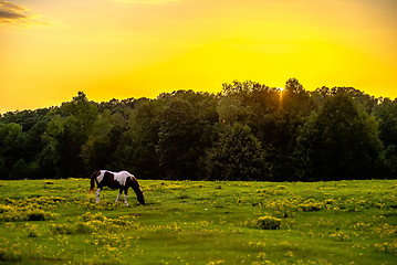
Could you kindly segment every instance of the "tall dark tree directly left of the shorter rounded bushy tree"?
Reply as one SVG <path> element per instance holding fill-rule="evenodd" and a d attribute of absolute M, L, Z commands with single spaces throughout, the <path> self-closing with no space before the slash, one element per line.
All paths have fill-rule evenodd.
<path fill-rule="evenodd" d="M 171 179 L 198 179 L 200 160 L 211 145 L 212 125 L 218 123 L 216 100 L 209 94 L 176 92 L 163 97 L 156 147 L 161 171 Z"/>

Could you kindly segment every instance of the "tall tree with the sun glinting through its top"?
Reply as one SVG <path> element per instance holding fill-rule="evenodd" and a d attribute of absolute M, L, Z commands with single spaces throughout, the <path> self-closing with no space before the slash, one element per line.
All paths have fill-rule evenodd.
<path fill-rule="evenodd" d="M 317 109 L 315 98 L 306 92 L 296 78 L 290 78 L 285 88 L 268 92 L 268 104 L 273 106 L 251 123 L 257 125 L 255 135 L 267 152 L 270 179 L 274 181 L 294 180 L 293 153 L 296 138 L 307 117 Z"/>

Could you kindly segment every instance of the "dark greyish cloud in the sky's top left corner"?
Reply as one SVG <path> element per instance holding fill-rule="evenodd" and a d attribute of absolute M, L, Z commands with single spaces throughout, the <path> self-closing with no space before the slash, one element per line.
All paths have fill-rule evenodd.
<path fill-rule="evenodd" d="M 28 10 L 9 1 L 0 1 L 0 24 L 46 24 Z"/>

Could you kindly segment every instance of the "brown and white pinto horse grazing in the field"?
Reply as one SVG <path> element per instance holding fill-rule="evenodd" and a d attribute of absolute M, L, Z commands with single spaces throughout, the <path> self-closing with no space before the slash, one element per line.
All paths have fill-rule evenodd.
<path fill-rule="evenodd" d="M 119 189 L 116 203 L 118 202 L 119 197 L 122 195 L 124 191 L 124 204 L 128 206 L 127 202 L 127 192 L 128 188 L 132 187 L 133 190 L 136 193 L 136 198 L 138 199 L 138 202 L 140 204 L 145 204 L 144 193 L 142 192 L 139 188 L 139 183 L 134 177 L 134 174 L 130 174 L 127 171 L 119 171 L 119 172 L 112 172 L 107 170 L 98 170 L 95 171 L 91 176 L 91 189 L 90 193 L 92 193 L 95 189 L 95 182 L 96 182 L 96 202 L 100 202 L 100 193 L 102 189 L 107 186 L 111 189 Z"/>

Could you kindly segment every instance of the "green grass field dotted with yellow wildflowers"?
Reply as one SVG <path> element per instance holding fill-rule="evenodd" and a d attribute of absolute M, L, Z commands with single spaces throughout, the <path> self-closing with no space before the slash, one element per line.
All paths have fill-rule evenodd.
<path fill-rule="evenodd" d="M 397 264 L 397 180 L 0 181 L 3 264 Z"/>

